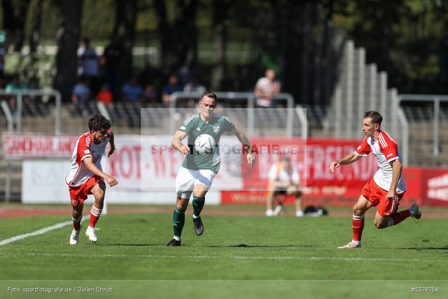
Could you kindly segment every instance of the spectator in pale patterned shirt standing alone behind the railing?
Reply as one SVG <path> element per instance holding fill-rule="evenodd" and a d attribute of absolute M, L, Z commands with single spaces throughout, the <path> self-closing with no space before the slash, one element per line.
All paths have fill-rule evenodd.
<path fill-rule="evenodd" d="M 264 77 L 258 79 L 253 93 L 257 95 L 257 107 L 272 107 L 272 96 L 280 93 L 280 82 L 275 79 L 273 69 L 267 69 Z"/>

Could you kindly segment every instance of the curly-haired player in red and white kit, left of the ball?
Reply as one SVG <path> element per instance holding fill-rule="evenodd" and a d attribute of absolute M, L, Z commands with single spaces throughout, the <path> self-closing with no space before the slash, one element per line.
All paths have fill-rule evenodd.
<path fill-rule="evenodd" d="M 72 155 L 72 167 L 65 182 L 69 185 L 70 200 L 72 203 L 73 231 L 70 235 L 70 245 L 78 244 L 79 232 L 81 230 L 81 219 L 83 218 L 84 200 L 87 195 L 93 194 L 95 203 L 90 210 L 90 223 L 86 235 L 92 242 L 97 242 L 95 224 L 100 218 L 104 204 L 106 184 L 112 187 L 118 181 L 103 172 L 101 158 L 106 151 L 108 157 L 115 150 L 113 134 L 110 130 L 111 122 L 102 115 L 95 115 L 89 119 L 90 132 L 83 134 L 76 142 Z M 106 150 L 107 144 L 110 148 Z"/>

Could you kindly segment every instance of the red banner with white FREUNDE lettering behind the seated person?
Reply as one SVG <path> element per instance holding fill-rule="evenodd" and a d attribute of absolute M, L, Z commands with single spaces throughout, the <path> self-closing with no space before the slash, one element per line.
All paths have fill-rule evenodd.
<path fill-rule="evenodd" d="M 278 139 L 258 138 L 250 140 L 258 153 L 257 162 L 253 168 L 244 167 L 242 160 L 241 173 L 243 189 L 265 188 L 267 173 L 271 165 L 280 160 L 282 155 L 288 155 L 291 163 L 299 171 L 302 185 L 308 187 L 345 186 L 347 188 L 362 188 L 365 182 L 373 177 L 378 170 L 376 157 L 371 154 L 359 159 L 356 163 L 343 165 L 335 173 L 329 171 L 330 163 L 352 153 L 361 141 L 301 138 Z M 278 147 L 277 153 L 268 147 Z"/>

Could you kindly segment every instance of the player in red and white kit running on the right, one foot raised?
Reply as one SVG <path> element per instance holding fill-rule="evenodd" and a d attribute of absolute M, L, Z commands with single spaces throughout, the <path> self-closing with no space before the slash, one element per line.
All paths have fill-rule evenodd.
<path fill-rule="evenodd" d="M 366 112 L 362 120 L 362 131 L 366 137 L 361 145 L 353 153 L 330 164 L 330 171 L 335 172 L 340 165 L 353 163 L 372 152 L 378 159 L 380 167 L 373 178 L 364 185 L 361 196 L 353 206 L 353 239 L 347 245 L 338 248 L 361 247 L 364 214 L 371 207 L 378 206 L 373 223 L 379 229 L 397 225 L 410 216 L 415 219 L 422 217 L 417 203 L 407 210 L 398 212 L 406 184 L 401 175 L 402 164 L 398 145 L 387 132 L 380 129 L 382 121 L 383 118 L 378 112 Z"/>

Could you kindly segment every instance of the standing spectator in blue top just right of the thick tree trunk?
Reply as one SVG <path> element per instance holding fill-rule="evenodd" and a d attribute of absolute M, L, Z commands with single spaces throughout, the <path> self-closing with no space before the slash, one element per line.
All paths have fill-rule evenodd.
<path fill-rule="evenodd" d="M 80 61 L 80 75 L 89 81 L 89 87 L 93 95 L 98 92 L 99 58 L 95 49 L 90 46 L 89 38 L 83 39 L 83 46 L 78 49 Z"/>

